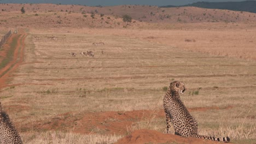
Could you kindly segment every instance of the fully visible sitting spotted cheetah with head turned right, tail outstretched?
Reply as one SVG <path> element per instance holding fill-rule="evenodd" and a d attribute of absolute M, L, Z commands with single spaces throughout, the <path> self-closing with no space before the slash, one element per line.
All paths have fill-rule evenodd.
<path fill-rule="evenodd" d="M 167 133 L 170 133 L 171 123 L 176 135 L 208 139 L 212 141 L 229 142 L 229 137 L 216 138 L 197 134 L 197 122 L 190 115 L 187 108 L 179 98 L 179 93 L 184 93 L 185 86 L 183 82 L 171 82 L 165 97 L 164 110 L 166 115 Z"/>

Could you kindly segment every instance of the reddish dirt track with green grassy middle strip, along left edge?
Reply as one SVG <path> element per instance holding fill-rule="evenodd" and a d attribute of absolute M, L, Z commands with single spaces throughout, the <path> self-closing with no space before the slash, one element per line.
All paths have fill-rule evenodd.
<path fill-rule="evenodd" d="M 20 30 L 18 34 L 11 34 L 10 38 L 8 38 L 7 42 L 1 48 L 0 64 L 4 67 L 1 68 L 0 65 L 0 89 L 6 87 L 8 76 L 12 71 L 16 70 L 23 61 L 26 36 L 27 34 L 23 30 Z M 9 56 L 8 58 L 8 55 L 13 56 Z M 3 61 L 7 63 L 3 64 Z"/>

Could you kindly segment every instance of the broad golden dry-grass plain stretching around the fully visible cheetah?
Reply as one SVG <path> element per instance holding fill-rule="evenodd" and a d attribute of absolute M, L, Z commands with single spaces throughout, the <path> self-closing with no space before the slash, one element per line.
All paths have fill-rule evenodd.
<path fill-rule="evenodd" d="M 162 109 L 165 87 L 178 80 L 188 88 L 181 97 L 189 109 L 218 107 L 191 112 L 199 134 L 255 143 L 254 31 L 31 29 L 24 63 L 1 90 L 1 103 L 24 143 L 112 143 L 123 135 L 38 131 L 33 125 L 67 112 L 152 110 L 149 119 L 127 126 L 127 134 L 143 128 L 164 132 L 165 118 L 154 113 Z M 100 41 L 105 45 L 92 45 Z M 94 57 L 79 55 L 89 50 Z M 237 58 L 240 51 L 245 59 Z"/>

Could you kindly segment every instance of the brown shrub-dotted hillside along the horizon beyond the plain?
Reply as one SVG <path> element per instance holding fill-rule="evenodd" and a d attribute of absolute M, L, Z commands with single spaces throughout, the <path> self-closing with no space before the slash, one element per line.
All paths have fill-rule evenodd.
<path fill-rule="evenodd" d="M 127 14 L 133 20 L 152 23 L 199 23 L 199 22 L 255 22 L 256 14 L 197 7 L 160 8 L 150 5 L 118 5 L 113 7 L 87 7 L 84 5 L 61 4 L 0 4 L 0 13 L 16 11 L 24 7 L 26 13 L 62 13 L 63 15 L 78 14 L 80 17 L 91 14 L 112 15 L 121 18 Z M 62 15 L 61 14 L 61 15 Z M 40 14 L 42 15 L 42 14 Z M 65 17 L 65 16 L 64 16 Z M 83 17 L 84 19 L 84 17 Z M 101 19 L 101 18 L 100 18 Z M 107 20 L 109 20 L 107 18 Z M 3 21 L 4 22 L 4 21 Z"/>

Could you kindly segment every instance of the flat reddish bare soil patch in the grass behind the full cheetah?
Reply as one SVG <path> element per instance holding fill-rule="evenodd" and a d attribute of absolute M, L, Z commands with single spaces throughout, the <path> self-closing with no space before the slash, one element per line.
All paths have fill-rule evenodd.
<path fill-rule="evenodd" d="M 193 111 L 225 110 L 228 107 L 194 107 Z M 165 119 L 164 110 L 136 110 L 136 111 L 106 111 L 106 112 L 68 112 L 57 117 L 38 121 L 33 125 L 34 130 L 61 130 L 80 134 L 117 134 L 125 135 L 130 131 L 127 129 L 140 121 L 148 121 L 152 118 Z M 21 126 L 28 130 L 30 125 Z"/>

